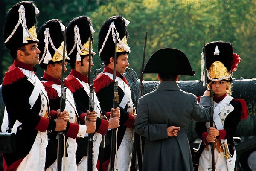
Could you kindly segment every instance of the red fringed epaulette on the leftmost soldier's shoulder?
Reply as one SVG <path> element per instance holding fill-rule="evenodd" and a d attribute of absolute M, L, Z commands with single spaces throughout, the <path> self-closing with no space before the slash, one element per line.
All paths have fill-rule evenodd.
<path fill-rule="evenodd" d="M 5 73 L 3 78 L 3 85 L 12 84 L 15 81 L 18 81 L 21 78 L 24 78 L 25 74 L 15 65 L 11 65 L 8 68 L 8 71 Z"/>

